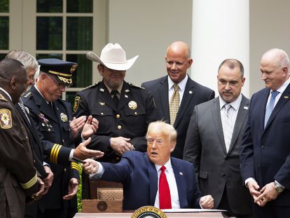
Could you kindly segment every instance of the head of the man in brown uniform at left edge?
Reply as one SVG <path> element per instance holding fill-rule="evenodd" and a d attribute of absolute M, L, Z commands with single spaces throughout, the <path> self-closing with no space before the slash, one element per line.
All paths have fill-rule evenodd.
<path fill-rule="evenodd" d="M 25 91 L 27 73 L 18 60 L 4 59 L 0 62 L 0 86 L 11 95 L 13 103 L 19 101 Z"/>

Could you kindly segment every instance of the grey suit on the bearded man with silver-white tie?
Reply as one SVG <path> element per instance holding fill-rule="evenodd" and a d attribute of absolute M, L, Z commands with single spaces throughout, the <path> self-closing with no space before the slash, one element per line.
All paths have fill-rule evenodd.
<path fill-rule="evenodd" d="M 251 196 L 242 185 L 239 157 L 248 107 L 249 99 L 242 96 L 230 148 L 226 152 L 219 97 L 197 105 L 184 147 L 184 160 L 195 165 L 202 194 L 212 195 L 216 208 L 226 188 L 230 208 L 237 214 L 251 213 Z"/>

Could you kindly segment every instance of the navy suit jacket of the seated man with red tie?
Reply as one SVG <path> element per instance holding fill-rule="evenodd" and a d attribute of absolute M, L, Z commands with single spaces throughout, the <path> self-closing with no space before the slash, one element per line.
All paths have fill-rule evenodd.
<path fill-rule="evenodd" d="M 181 208 L 200 208 L 201 193 L 195 182 L 193 165 L 187 161 L 171 158 L 177 181 Z M 145 205 L 154 205 L 158 190 L 158 175 L 147 153 L 127 151 L 119 163 L 102 163 L 102 179 L 123 183 L 123 210 L 136 210 Z"/>

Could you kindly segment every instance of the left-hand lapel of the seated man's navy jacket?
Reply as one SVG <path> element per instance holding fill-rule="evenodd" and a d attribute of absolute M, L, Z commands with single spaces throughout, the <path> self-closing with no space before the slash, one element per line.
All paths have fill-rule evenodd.
<path fill-rule="evenodd" d="M 154 163 L 149 161 L 147 153 L 144 153 L 144 158 L 146 165 L 148 166 L 148 175 L 149 175 L 149 186 L 150 186 L 150 205 L 154 205 L 156 199 L 156 193 L 158 190 L 158 174 Z M 140 187 L 141 188 L 141 187 Z"/>

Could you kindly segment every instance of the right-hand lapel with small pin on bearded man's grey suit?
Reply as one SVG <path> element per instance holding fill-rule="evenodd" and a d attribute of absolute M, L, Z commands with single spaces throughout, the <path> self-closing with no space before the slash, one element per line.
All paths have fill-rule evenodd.
<path fill-rule="evenodd" d="M 237 138 L 241 134 L 241 130 L 244 125 L 244 121 L 247 118 L 248 114 L 248 107 L 249 107 L 249 102 L 247 101 L 246 97 L 242 95 L 242 102 L 239 107 L 239 111 L 237 111 L 237 118 L 235 120 L 235 126 L 233 130 L 233 136 L 230 141 L 230 148 L 228 149 L 228 154 L 230 154 L 230 151 L 233 150 L 233 147 L 235 146 L 235 142 L 237 141 Z"/>

